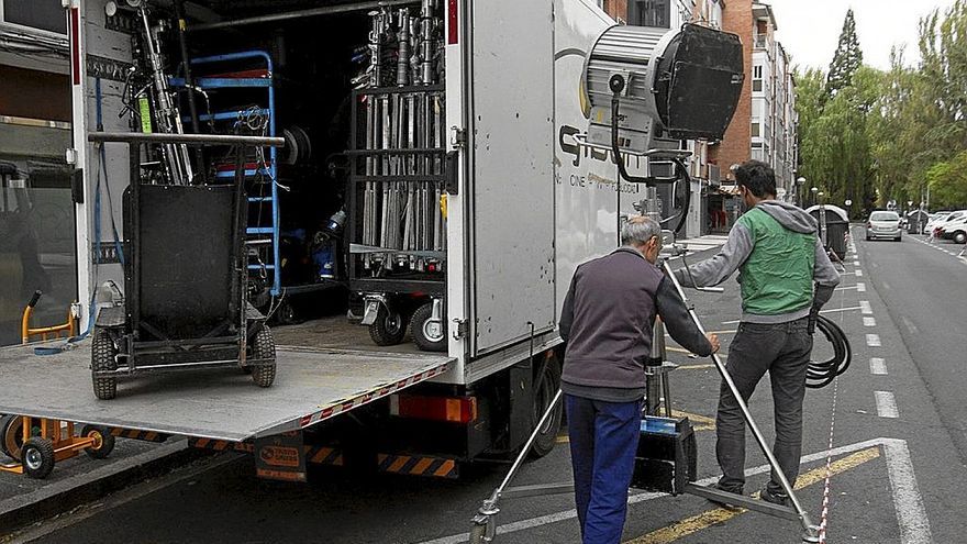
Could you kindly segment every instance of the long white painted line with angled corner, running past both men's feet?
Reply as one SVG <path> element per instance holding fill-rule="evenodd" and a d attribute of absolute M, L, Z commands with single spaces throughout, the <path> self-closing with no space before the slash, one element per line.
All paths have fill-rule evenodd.
<path fill-rule="evenodd" d="M 930 532 L 930 521 L 926 518 L 926 509 L 923 507 L 923 499 L 920 496 L 920 486 L 916 484 L 916 476 L 913 474 L 913 460 L 910 457 L 910 449 L 907 447 L 907 441 L 900 438 L 874 438 L 845 446 L 834 447 L 824 452 L 804 455 L 800 459 L 800 464 L 815 463 L 824 460 L 827 456 L 837 457 L 841 455 L 859 452 L 872 446 L 880 446 L 883 449 L 887 471 L 890 477 L 890 487 L 893 491 L 893 508 L 897 511 L 897 521 L 900 525 L 900 544 L 930 544 L 933 536 Z M 755 476 L 769 471 L 769 465 L 759 465 L 754 468 L 747 468 L 745 475 Z M 708 486 L 719 481 L 719 476 L 704 478 L 696 484 Z M 627 498 L 629 504 L 635 504 L 659 497 L 668 497 L 666 493 L 638 493 Z M 497 528 L 497 534 L 514 533 L 527 529 L 534 529 L 548 523 L 571 520 L 577 518 L 575 509 L 555 512 L 547 515 L 540 515 L 529 520 L 521 520 Z M 432 541 L 425 541 L 420 544 L 460 544 L 467 542 L 470 537 L 469 533 L 454 534 L 443 536 Z"/>

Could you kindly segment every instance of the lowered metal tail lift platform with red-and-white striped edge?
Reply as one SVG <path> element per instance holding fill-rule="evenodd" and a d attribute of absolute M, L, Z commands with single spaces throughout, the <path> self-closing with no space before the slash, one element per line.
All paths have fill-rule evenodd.
<path fill-rule="evenodd" d="M 90 389 L 90 344 L 56 355 L 0 348 L 0 413 L 129 431 L 244 442 L 298 431 L 444 374 L 445 356 L 279 346 L 268 389 L 240 369 L 124 380 L 118 398 Z"/>

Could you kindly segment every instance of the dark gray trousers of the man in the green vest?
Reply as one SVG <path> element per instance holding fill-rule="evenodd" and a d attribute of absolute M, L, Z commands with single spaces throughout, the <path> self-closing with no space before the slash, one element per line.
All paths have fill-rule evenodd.
<path fill-rule="evenodd" d="M 799 476 L 799 457 L 802 453 L 802 399 L 812 352 L 812 335 L 807 332 L 808 320 L 802 318 L 776 324 L 741 323 L 729 347 L 729 362 L 725 365 L 746 402 L 762 377 L 769 373 L 776 414 L 773 454 L 790 485 Z M 745 420 L 724 381 L 719 392 L 715 428 L 719 438 L 715 454 L 722 467 L 719 487 L 741 493 L 745 485 Z M 768 484 L 769 491 L 783 492 L 778 481 L 774 470 Z"/>

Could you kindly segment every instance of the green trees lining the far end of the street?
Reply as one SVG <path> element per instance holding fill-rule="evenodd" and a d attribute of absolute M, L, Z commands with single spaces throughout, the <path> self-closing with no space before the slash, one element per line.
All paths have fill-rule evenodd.
<path fill-rule="evenodd" d="M 889 200 L 919 203 L 927 189 L 932 209 L 967 208 L 967 0 L 920 22 L 915 68 L 896 48 L 887 71 L 852 68 L 852 19 L 830 75 L 796 75 L 807 189 L 852 200 L 854 218 Z"/>

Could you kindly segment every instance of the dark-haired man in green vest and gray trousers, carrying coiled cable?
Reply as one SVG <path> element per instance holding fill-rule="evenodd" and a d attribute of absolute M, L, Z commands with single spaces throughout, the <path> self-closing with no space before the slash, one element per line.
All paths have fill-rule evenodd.
<path fill-rule="evenodd" d="M 738 270 L 742 320 L 729 348 L 726 368 L 748 401 L 768 371 L 776 414 L 773 453 L 794 485 L 802 452 L 802 399 L 819 311 L 840 284 L 840 274 L 816 236 L 816 221 L 796 206 L 776 200 L 776 175 L 759 160 L 735 169 L 746 211 L 715 256 L 676 270 L 686 287 L 719 285 Z M 745 485 L 745 420 L 722 384 L 715 418 L 719 489 L 742 495 Z M 762 498 L 786 504 L 773 474 Z"/>

